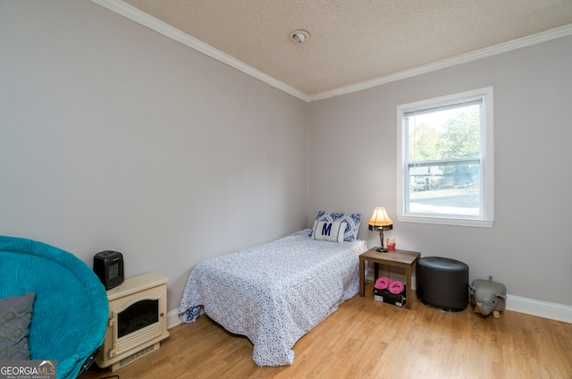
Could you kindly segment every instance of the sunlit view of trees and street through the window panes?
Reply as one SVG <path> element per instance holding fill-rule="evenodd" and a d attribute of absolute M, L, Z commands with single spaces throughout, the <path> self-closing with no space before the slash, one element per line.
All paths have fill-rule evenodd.
<path fill-rule="evenodd" d="M 409 112 L 408 213 L 480 215 L 481 102 Z"/>

